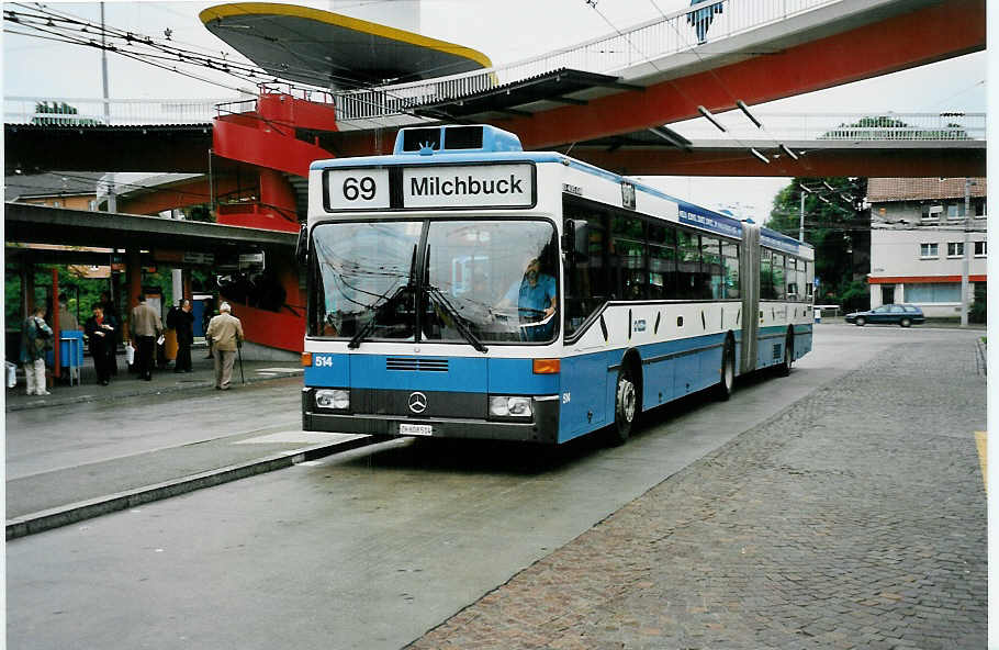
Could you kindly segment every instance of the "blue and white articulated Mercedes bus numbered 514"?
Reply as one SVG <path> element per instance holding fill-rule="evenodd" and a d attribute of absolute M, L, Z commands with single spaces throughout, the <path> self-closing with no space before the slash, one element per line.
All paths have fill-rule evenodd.
<path fill-rule="evenodd" d="M 811 349 L 813 251 L 492 126 L 308 177 L 306 430 L 561 444 Z"/>

